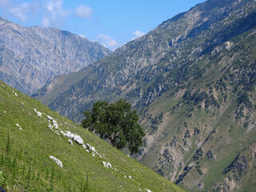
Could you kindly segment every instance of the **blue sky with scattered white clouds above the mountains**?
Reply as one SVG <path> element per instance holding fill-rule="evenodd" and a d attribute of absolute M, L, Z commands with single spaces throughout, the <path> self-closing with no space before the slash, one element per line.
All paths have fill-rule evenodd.
<path fill-rule="evenodd" d="M 0 0 L 0 15 L 22 26 L 57 27 L 110 50 L 205 0 Z"/>

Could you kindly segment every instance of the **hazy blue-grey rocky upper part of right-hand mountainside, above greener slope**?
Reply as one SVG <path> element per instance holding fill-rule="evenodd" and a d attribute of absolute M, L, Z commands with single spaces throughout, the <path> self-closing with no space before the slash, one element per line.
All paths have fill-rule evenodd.
<path fill-rule="evenodd" d="M 253 4 L 250 10 L 243 10 L 250 4 Z M 202 55 L 250 30 L 255 23 L 254 1 L 201 3 L 163 22 L 142 38 L 128 42 L 78 75 L 70 74 L 74 77 L 70 81 L 51 82 L 36 93 L 36 98 L 69 118 L 72 115 L 77 118 L 79 112 L 90 108 L 88 104 L 99 98 L 108 101 L 126 98 L 137 108 L 146 106 L 176 86 L 183 71 Z M 197 66 L 191 72 L 196 74 L 199 70 Z M 60 90 L 56 91 L 55 86 L 61 87 Z M 82 115 L 74 120 L 81 119 Z"/>

